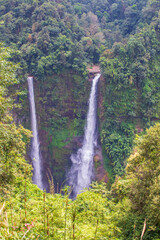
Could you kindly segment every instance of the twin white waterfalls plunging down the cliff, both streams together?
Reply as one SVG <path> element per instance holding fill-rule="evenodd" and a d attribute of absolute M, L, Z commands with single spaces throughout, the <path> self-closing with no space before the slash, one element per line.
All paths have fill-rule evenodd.
<path fill-rule="evenodd" d="M 93 179 L 93 158 L 94 148 L 97 145 L 96 131 L 96 111 L 97 111 L 97 83 L 100 74 L 97 74 L 92 81 L 92 88 L 89 98 L 89 109 L 87 113 L 87 121 L 85 126 L 85 134 L 82 148 L 77 154 L 71 155 L 72 166 L 68 173 L 69 185 L 73 189 L 73 198 L 76 197 L 84 188 L 88 188 Z M 33 77 L 28 77 L 29 102 L 31 112 L 32 125 L 32 143 L 31 143 L 31 159 L 33 163 L 33 182 L 43 189 L 42 174 L 41 174 L 41 157 L 39 150 L 39 139 L 37 132 L 36 109 L 34 101 Z"/>

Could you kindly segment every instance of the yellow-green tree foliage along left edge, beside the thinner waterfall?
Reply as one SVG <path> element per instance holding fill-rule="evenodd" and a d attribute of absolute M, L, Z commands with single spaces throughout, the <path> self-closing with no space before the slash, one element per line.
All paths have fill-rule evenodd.
<path fill-rule="evenodd" d="M 0 181 L 1 186 L 13 184 L 25 171 L 31 167 L 25 163 L 25 143 L 30 131 L 13 122 L 11 111 L 13 109 L 12 96 L 6 97 L 9 86 L 18 82 L 16 79 L 17 65 L 8 61 L 10 50 L 0 48 Z M 28 169 L 28 170 L 27 170 Z M 1 188 L 2 190 L 2 188 Z"/>

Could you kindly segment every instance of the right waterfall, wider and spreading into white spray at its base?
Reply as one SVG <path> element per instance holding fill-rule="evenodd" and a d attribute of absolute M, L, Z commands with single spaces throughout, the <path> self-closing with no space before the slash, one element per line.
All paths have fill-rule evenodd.
<path fill-rule="evenodd" d="M 96 115 L 97 84 L 99 78 L 100 74 L 97 74 L 92 81 L 82 148 L 77 151 L 77 154 L 71 155 L 72 166 L 68 172 L 68 184 L 72 188 L 73 198 L 84 188 L 89 188 L 93 180 L 94 148 L 97 145 Z"/>

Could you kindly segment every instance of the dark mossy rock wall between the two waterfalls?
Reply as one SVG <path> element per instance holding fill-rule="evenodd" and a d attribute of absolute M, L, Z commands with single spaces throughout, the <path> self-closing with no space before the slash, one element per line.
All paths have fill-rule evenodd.
<path fill-rule="evenodd" d="M 27 84 L 24 85 L 28 91 Z M 63 181 L 66 181 L 70 155 L 81 146 L 90 87 L 88 79 L 69 71 L 46 77 L 43 82 L 34 79 L 43 181 L 47 191 L 50 172 L 56 191 L 59 191 Z M 22 110 L 17 112 L 19 122 L 31 129 L 27 95 L 21 102 Z M 31 161 L 29 148 L 27 159 Z"/>

